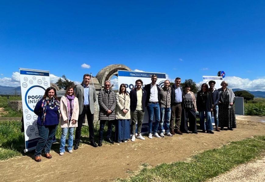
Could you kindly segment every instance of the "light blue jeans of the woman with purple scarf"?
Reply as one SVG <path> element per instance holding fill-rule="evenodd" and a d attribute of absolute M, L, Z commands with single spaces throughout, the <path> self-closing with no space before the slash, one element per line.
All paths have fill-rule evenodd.
<path fill-rule="evenodd" d="M 67 130 L 68 130 L 67 148 L 68 148 L 68 151 L 72 150 L 73 142 L 74 142 L 74 129 L 75 129 L 74 127 L 70 127 L 69 130 L 68 130 L 68 128 L 62 128 L 60 152 L 65 152 L 65 139 L 66 139 L 66 135 L 67 135 Z"/>

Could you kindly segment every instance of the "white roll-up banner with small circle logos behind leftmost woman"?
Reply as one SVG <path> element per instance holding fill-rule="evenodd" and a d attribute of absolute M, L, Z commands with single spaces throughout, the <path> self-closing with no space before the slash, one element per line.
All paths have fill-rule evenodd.
<path fill-rule="evenodd" d="M 39 137 L 38 116 L 34 113 L 34 107 L 42 98 L 45 90 L 50 87 L 50 73 L 49 71 L 24 68 L 19 68 L 19 71 L 25 130 L 24 152 L 27 152 L 34 150 L 37 145 Z"/>

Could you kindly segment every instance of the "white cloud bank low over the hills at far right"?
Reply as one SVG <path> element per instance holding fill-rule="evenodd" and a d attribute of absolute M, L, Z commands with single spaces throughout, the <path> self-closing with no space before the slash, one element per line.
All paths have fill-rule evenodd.
<path fill-rule="evenodd" d="M 223 80 L 228 82 L 228 88 L 243 89 L 249 91 L 265 91 L 265 78 L 250 80 L 236 76 L 227 76 Z M 197 83 L 201 85 L 203 82 Z"/>

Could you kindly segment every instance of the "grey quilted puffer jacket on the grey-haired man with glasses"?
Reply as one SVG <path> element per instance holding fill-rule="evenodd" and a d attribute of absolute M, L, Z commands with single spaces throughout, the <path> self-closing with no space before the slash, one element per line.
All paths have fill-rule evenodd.
<path fill-rule="evenodd" d="M 116 98 L 115 93 L 111 89 L 109 90 L 109 96 L 106 89 L 98 93 L 99 120 L 115 120 Z M 107 114 L 108 110 L 111 110 L 112 113 Z"/>

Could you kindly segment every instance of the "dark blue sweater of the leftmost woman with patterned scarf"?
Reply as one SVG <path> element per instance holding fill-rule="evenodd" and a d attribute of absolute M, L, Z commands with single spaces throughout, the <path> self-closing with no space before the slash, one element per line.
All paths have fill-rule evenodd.
<path fill-rule="evenodd" d="M 39 125 L 57 125 L 59 123 L 59 118 L 58 118 L 58 107 L 55 106 L 53 109 L 51 109 L 50 106 L 46 106 L 46 117 L 45 121 L 42 124 L 41 121 L 41 116 L 43 115 L 43 108 L 41 107 L 43 99 L 41 99 L 35 106 L 34 108 L 34 113 L 37 114 L 38 119 L 37 123 Z"/>

